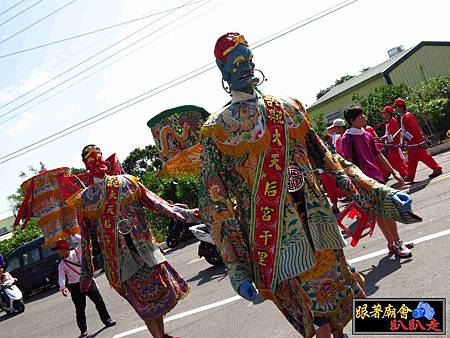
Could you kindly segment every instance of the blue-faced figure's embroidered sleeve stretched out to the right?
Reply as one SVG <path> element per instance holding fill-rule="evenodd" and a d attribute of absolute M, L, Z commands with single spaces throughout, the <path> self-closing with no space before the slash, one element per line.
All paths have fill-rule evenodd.
<path fill-rule="evenodd" d="M 340 155 L 332 154 L 312 129 L 307 135 L 306 142 L 312 164 L 334 176 L 338 188 L 351 194 L 352 199 L 369 214 L 393 218 L 402 223 L 421 221 L 420 217 L 401 211 L 400 207 L 393 202 L 392 196 L 398 190 L 378 183 Z"/>

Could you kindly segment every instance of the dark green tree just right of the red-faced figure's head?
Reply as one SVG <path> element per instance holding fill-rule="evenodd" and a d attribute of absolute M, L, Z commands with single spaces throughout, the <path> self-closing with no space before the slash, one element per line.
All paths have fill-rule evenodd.
<path fill-rule="evenodd" d="M 145 148 L 136 148 L 122 163 L 127 174 L 142 177 L 147 172 L 161 170 L 162 162 L 159 159 L 159 150 L 155 145 Z"/>

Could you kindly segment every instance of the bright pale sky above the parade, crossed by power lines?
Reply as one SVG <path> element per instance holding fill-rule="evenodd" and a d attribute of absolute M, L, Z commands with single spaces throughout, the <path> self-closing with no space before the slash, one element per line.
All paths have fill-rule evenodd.
<path fill-rule="evenodd" d="M 0 12 L 17 1 L 2 0 Z M 35 0 L 27 0 L 1 15 L 0 23 L 34 2 Z M 1 25 L 0 41 L 69 2 L 71 0 L 42 1 L 26 13 Z M 133 47 L 142 49 L 113 66 L 36 107 L 29 108 L 37 101 L 25 105 L 6 117 L 23 111 L 20 116 L 4 124 L 1 124 L 4 118 L 0 118 L 0 157 L 213 61 L 215 40 L 227 31 L 243 33 L 251 44 L 338 2 L 205 0 L 179 9 L 67 75 L 1 108 L 0 115 L 101 58 L 167 25 Z M 78 0 L 29 30 L 1 43 L 0 55 L 184 3 L 186 0 Z M 311 104 L 315 94 L 334 83 L 336 78 L 345 74 L 357 74 L 364 67 L 386 60 L 387 50 L 392 47 L 409 47 L 422 40 L 448 40 L 449 9 L 450 5 L 445 0 L 360 0 L 255 50 L 256 66 L 268 78 L 262 89 L 276 95 L 294 96 Z M 189 11 L 193 12 L 189 14 Z M 184 14 L 184 18 L 170 23 Z M 158 17 L 0 59 L 0 106 L 156 18 Z M 88 46 L 90 47 L 87 48 Z M 132 48 L 126 52 L 131 50 Z M 77 54 L 71 57 L 75 53 Z M 118 54 L 117 57 L 121 55 L 123 54 Z M 84 75 L 87 74 L 89 72 Z M 67 82 L 38 100 L 70 86 L 80 78 Z M 26 171 L 29 165 L 38 167 L 39 161 L 42 161 L 47 169 L 82 167 L 80 151 L 88 143 L 98 144 L 106 155 L 117 152 L 123 160 L 132 149 L 153 142 L 146 122 L 158 112 L 184 104 L 196 104 L 212 112 L 227 99 L 226 93 L 221 89 L 220 74 L 214 69 L 111 118 L 0 164 L 0 218 L 8 215 L 8 212 L 1 214 L 10 207 L 6 197 L 20 185 L 22 179 L 19 178 L 19 173 Z"/>

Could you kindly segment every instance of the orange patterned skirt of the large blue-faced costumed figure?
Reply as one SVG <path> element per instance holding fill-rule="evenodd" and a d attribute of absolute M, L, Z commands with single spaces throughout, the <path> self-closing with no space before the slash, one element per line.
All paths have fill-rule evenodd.
<path fill-rule="evenodd" d="M 275 291 L 275 304 L 304 337 L 329 323 L 342 330 L 352 319 L 352 299 L 365 297 L 342 250 L 316 252 L 316 264 L 300 276 L 282 281 Z"/>

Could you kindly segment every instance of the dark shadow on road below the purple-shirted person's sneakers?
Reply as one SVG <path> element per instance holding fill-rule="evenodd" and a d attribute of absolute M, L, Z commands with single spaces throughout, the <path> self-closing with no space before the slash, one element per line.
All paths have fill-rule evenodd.
<path fill-rule="evenodd" d="M 364 275 L 364 278 L 366 279 L 364 290 L 367 296 L 371 296 L 378 291 L 377 283 L 380 280 L 399 270 L 402 264 L 406 264 L 412 261 L 411 258 L 400 259 L 398 257 L 395 257 L 394 259 L 391 259 L 391 257 L 392 256 L 385 256 L 380 259 L 378 265 L 372 265 L 372 268 L 370 269 L 359 271 Z M 366 273 L 367 271 L 369 272 Z"/>

